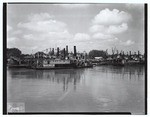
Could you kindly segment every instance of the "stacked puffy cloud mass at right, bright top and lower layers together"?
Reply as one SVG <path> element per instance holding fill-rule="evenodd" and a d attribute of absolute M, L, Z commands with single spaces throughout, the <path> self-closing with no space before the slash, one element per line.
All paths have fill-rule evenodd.
<path fill-rule="evenodd" d="M 92 20 L 89 31 L 93 39 L 101 39 L 105 42 L 117 42 L 117 34 L 124 33 L 128 30 L 128 22 L 132 16 L 124 11 L 113 9 L 101 10 Z M 133 44 L 132 41 L 122 42 L 122 45 Z"/>

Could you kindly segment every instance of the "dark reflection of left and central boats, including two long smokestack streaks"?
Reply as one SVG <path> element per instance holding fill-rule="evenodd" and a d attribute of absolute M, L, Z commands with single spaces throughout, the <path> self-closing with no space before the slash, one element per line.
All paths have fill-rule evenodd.
<path fill-rule="evenodd" d="M 67 69 L 67 70 L 27 70 L 27 69 L 9 69 L 9 74 L 13 79 L 47 79 L 52 83 L 63 84 L 63 91 L 68 90 L 69 84 L 76 90 L 80 79 L 84 77 L 85 69 Z"/>

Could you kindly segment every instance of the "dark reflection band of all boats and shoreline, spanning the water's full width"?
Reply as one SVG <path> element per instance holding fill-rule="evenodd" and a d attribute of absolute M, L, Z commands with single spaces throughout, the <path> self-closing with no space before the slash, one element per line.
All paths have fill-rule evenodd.
<path fill-rule="evenodd" d="M 63 91 L 68 90 L 69 84 L 77 85 L 85 79 L 89 73 L 105 75 L 105 78 L 121 80 L 143 80 L 145 75 L 144 66 L 99 66 L 93 69 L 62 69 L 62 70 L 29 70 L 29 69 L 9 69 L 9 74 L 13 79 L 47 79 L 50 82 L 63 84 Z"/>

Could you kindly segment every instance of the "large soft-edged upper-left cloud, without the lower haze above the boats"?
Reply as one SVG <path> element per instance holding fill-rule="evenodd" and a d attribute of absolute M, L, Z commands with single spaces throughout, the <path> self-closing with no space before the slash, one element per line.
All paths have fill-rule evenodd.
<path fill-rule="evenodd" d="M 36 40 L 57 40 L 70 38 L 72 35 L 67 30 L 64 22 L 54 19 L 54 16 L 48 13 L 30 14 L 27 22 L 18 23 L 18 28 L 26 30 L 28 34 L 24 35 L 24 39 Z"/>

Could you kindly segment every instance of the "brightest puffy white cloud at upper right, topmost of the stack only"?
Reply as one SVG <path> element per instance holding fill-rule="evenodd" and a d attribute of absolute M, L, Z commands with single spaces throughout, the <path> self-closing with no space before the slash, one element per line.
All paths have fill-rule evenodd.
<path fill-rule="evenodd" d="M 109 9 L 104 9 L 97 14 L 94 19 L 94 24 L 100 25 L 118 25 L 124 22 L 128 22 L 131 19 L 131 15 L 124 11 L 119 11 L 117 9 L 113 9 L 112 11 Z"/>

